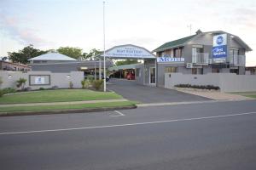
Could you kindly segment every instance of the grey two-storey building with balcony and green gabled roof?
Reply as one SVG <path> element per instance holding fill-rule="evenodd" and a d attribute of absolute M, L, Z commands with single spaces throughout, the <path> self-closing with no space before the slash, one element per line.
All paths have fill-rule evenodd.
<path fill-rule="evenodd" d="M 225 31 L 199 30 L 195 35 L 166 42 L 153 51 L 157 56 L 157 86 L 164 86 L 166 72 L 245 74 L 248 51 L 252 49 L 246 42 Z"/>

